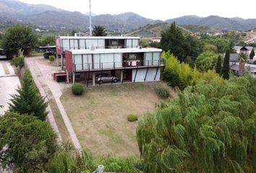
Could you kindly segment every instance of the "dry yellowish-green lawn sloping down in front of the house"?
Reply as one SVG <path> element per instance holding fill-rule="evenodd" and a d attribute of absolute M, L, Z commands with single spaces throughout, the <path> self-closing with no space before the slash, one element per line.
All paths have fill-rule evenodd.
<path fill-rule="evenodd" d="M 139 155 L 137 122 L 128 122 L 127 115 L 153 112 L 159 101 L 156 84 L 95 86 L 86 88 L 82 96 L 74 96 L 71 89 L 66 89 L 61 102 L 81 145 L 93 155 Z"/>

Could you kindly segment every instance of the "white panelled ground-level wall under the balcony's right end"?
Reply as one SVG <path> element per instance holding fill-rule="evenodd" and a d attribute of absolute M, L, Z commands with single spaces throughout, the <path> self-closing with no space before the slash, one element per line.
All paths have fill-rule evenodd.
<path fill-rule="evenodd" d="M 158 68 L 158 74 L 155 77 L 156 71 L 157 71 L 157 68 L 148 68 L 148 74 L 145 81 L 154 81 L 154 78 L 155 78 L 155 81 L 160 81 L 161 68 Z M 138 69 L 137 76 L 135 79 L 136 69 L 133 69 L 132 81 L 134 81 L 134 79 L 135 79 L 135 82 L 144 81 L 146 73 L 147 73 L 147 68 Z"/>

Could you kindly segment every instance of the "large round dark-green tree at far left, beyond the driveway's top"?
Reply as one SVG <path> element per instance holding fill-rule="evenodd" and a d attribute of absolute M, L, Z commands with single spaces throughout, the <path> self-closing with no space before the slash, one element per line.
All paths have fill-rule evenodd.
<path fill-rule="evenodd" d="M 13 58 L 13 56 L 19 55 L 19 50 L 25 56 L 29 55 L 37 42 L 38 37 L 30 27 L 14 25 L 6 30 L 1 40 L 1 45 L 7 53 L 7 57 Z"/>

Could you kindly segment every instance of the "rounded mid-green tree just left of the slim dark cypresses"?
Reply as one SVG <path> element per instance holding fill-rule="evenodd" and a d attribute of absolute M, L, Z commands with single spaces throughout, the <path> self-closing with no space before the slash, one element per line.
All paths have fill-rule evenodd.
<path fill-rule="evenodd" d="M 213 70 L 216 67 L 217 59 L 218 54 L 207 51 L 197 57 L 195 64 L 200 71 Z"/>

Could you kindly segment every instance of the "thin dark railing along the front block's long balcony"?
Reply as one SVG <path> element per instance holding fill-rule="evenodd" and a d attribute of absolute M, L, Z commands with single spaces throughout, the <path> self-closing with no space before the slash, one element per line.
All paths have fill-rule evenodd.
<path fill-rule="evenodd" d="M 139 68 L 139 67 L 152 67 L 163 66 L 163 62 L 155 61 L 121 61 L 121 62 L 105 62 L 105 63 L 75 63 L 74 71 L 91 71 L 91 70 L 104 70 L 116 68 Z"/>

